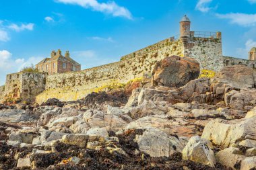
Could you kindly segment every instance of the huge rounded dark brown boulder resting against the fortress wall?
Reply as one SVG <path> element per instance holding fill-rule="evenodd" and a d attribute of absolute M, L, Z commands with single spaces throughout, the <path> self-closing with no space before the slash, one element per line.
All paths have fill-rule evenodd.
<path fill-rule="evenodd" d="M 193 58 L 168 56 L 156 63 L 153 70 L 153 85 L 181 87 L 200 73 L 199 62 Z"/>

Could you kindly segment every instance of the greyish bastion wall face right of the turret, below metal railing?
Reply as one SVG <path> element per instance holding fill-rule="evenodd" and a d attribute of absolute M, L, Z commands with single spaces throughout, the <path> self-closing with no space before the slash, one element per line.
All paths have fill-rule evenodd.
<path fill-rule="evenodd" d="M 195 58 L 201 69 L 220 71 L 224 67 L 222 41 L 218 38 L 191 38 L 184 55 Z"/>

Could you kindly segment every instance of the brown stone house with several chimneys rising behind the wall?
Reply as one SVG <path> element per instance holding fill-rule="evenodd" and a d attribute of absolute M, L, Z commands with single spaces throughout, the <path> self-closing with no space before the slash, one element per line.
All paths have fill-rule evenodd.
<path fill-rule="evenodd" d="M 49 75 L 81 71 L 81 65 L 69 56 L 69 51 L 66 51 L 65 56 L 63 56 L 61 50 L 57 50 L 57 52 L 53 50 L 51 52 L 51 58 L 44 58 L 36 65 L 36 68 Z"/>

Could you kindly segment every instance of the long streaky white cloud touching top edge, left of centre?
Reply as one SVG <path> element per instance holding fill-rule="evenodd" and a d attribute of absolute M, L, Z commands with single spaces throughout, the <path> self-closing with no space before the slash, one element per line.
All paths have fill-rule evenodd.
<path fill-rule="evenodd" d="M 100 3 L 97 0 L 55 0 L 59 3 L 80 5 L 84 8 L 90 8 L 94 11 L 100 11 L 102 13 L 111 14 L 114 17 L 125 17 L 132 19 L 131 12 L 125 8 L 117 5 L 114 1 L 107 3 Z"/>

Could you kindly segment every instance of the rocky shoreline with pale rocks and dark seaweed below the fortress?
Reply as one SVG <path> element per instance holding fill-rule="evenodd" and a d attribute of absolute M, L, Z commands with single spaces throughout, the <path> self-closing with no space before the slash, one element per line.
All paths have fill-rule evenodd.
<path fill-rule="evenodd" d="M 226 67 L 214 79 L 184 74 L 192 80 L 170 87 L 161 84 L 169 82 L 161 67 L 158 85 L 129 95 L 120 90 L 78 101 L 0 105 L 0 169 L 254 170 L 253 69 Z"/>

